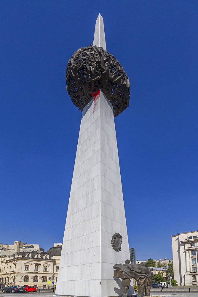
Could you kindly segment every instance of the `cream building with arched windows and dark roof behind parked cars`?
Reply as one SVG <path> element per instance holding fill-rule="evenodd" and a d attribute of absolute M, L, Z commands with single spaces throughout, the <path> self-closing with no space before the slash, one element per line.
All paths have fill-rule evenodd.
<path fill-rule="evenodd" d="M 0 257 L 0 284 L 47 286 L 47 281 L 55 283 L 58 277 L 61 246 L 50 248 L 47 252 L 19 252 Z"/>

